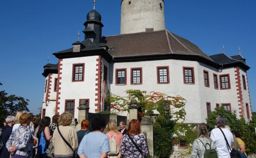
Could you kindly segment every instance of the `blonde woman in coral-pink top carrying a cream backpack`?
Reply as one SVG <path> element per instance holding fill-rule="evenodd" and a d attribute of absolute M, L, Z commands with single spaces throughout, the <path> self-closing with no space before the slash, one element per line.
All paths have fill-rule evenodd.
<path fill-rule="evenodd" d="M 108 133 L 106 134 L 106 136 L 108 136 L 108 139 L 110 140 L 111 138 L 114 138 L 118 148 L 120 148 L 123 135 L 117 130 L 116 123 L 114 121 L 108 122 L 107 131 Z M 108 158 L 116 158 L 118 155 L 121 156 L 120 152 L 116 153 L 115 155 L 111 155 L 111 153 L 108 153 Z"/>

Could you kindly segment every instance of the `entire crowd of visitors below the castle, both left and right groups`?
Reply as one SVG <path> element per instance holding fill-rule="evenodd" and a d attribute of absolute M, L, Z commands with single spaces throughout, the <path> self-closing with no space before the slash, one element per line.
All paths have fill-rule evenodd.
<path fill-rule="evenodd" d="M 143 158 L 148 155 L 139 120 L 131 120 L 128 129 L 120 122 L 117 130 L 115 121 L 106 125 L 104 119 L 93 118 L 92 122 L 83 120 L 78 132 L 70 127 L 71 122 L 69 112 L 54 115 L 52 120 L 50 117 L 40 120 L 32 113 L 17 111 L 6 118 L 1 129 L 4 147 L 0 149 L 0 158 Z M 204 158 L 209 149 L 216 151 L 219 158 L 230 158 L 234 151 L 247 158 L 239 132 L 231 132 L 226 123 L 227 118 L 219 115 L 217 128 L 211 131 L 209 125 L 198 124 L 191 158 Z M 105 128 L 107 133 L 103 134 Z"/>

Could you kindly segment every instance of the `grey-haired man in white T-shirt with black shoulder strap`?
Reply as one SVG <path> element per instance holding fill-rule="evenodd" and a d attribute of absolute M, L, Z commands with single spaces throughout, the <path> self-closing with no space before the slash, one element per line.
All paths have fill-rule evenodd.
<path fill-rule="evenodd" d="M 232 149 L 232 144 L 234 142 L 232 133 L 225 128 L 225 125 L 227 124 L 227 118 L 224 115 L 219 115 L 216 118 L 216 125 L 217 128 L 211 130 L 211 139 L 215 143 L 217 147 L 217 152 L 219 154 L 219 158 L 230 158 L 230 148 Z M 224 133 L 225 137 L 227 138 L 227 142 L 224 139 Z"/>

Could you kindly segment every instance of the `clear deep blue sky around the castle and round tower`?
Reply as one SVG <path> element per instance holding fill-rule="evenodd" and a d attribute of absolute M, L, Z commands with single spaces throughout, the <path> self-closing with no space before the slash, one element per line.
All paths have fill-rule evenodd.
<path fill-rule="evenodd" d="M 72 47 L 84 30 L 93 0 L 9 0 L 0 4 L 0 81 L 9 94 L 30 100 L 34 114 L 42 106 L 43 66 L 57 63 L 52 53 Z M 248 74 L 256 111 L 256 1 L 165 0 L 166 28 L 187 38 L 206 54 L 241 53 L 251 67 Z M 104 24 L 102 35 L 120 33 L 121 0 L 96 0 Z M 80 36 L 83 40 L 84 36 Z"/>

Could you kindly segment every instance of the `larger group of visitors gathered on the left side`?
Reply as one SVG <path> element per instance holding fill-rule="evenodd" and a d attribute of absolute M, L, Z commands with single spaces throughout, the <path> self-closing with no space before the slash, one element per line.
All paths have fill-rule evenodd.
<path fill-rule="evenodd" d="M 72 115 L 64 112 L 51 118 L 24 111 L 8 116 L 0 138 L 0 158 L 143 158 L 148 156 L 140 121 L 131 120 L 128 129 L 120 122 L 108 124 L 102 118 L 83 120 L 81 130 L 70 127 Z M 89 126 L 91 124 L 91 131 Z M 107 133 L 103 131 L 106 128 Z"/>

